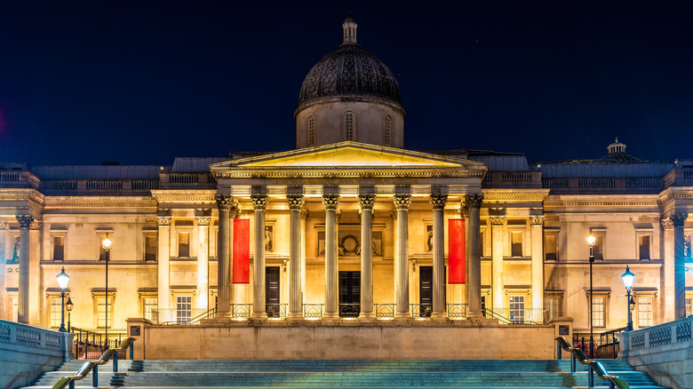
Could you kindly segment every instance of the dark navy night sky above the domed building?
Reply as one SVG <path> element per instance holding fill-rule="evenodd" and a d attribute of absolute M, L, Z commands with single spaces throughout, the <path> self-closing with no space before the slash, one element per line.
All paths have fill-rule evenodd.
<path fill-rule="evenodd" d="M 693 158 L 693 2 L 273 3 L 0 2 L 0 162 L 292 149 L 347 12 L 400 84 L 407 148 Z"/>

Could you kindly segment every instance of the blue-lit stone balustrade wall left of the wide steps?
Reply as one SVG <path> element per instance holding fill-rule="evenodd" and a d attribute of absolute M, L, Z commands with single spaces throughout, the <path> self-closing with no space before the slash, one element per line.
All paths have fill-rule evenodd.
<path fill-rule="evenodd" d="M 30 385 L 70 358 L 72 334 L 0 320 L 0 388 Z"/>

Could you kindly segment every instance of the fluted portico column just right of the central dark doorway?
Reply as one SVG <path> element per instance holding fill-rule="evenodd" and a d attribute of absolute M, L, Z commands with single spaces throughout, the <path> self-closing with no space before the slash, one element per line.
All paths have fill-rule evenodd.
<path fill-rule="evenodd" d="M 361 314 L 371 319 L 373 314 L 373 205 L 375 194 L 361 194 Z"/>

